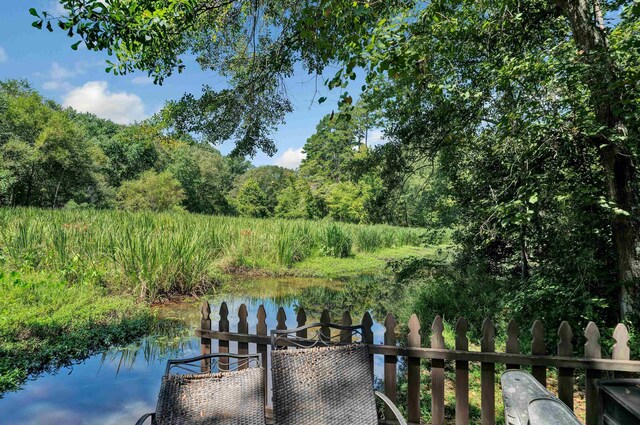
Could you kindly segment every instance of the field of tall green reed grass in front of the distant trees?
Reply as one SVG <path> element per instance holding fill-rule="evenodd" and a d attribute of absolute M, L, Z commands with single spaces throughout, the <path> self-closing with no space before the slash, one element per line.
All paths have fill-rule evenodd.
<path fill-rule="evenodd" d="M 291 267 L 312 256 L 421 245 L 426 230 L 188 213 L 0 209 L 0 266 L 91 278 L 154 299 L 207 289 L 220 264 Z"/>

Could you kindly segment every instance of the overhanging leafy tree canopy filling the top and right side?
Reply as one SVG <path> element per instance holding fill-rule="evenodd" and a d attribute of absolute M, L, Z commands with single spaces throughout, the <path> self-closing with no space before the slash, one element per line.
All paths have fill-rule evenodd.
<path fill-rule="evenodd" d="M 364 73 L 356 90 L 391 140 L 376 153 L 383 187 L 435 164 L 442 187 L 465 203 L 459 240 L 480 269 L 520 283 L 575 279 L 619 314 L 638 311 L 637 0 L 61 4 L 68 16 L 33 10 L 34 25 L 58 23 L 87 48 L 114 53 L 111 72 L 144 70 L 161 83 L 193 54 L 227 77 L 230 88 L 186 95 L 165 118 L 178 132 L 235 138 L 241 153 L 273 151 L 269 133 L 290 108 L 283 80 L 295 64 L 316 75 L 337 66 L 330 89 Z M 343 91 L 341 112 L 353 104 Z M 585 258 L 566 253 L 575 247 L 593 260 L 586 274 L 577 262 L 561 267 L 563 256 Z"/>

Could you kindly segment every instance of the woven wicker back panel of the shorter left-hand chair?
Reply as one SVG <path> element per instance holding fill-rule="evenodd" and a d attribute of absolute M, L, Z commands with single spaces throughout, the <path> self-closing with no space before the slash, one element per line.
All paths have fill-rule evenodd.
<path fill-rule="evenodd" d="M 162 378 L 157 425 L 264 425 L 262 368 Z"/>

